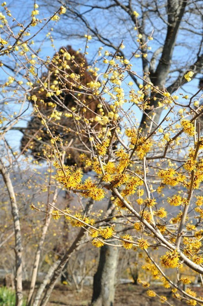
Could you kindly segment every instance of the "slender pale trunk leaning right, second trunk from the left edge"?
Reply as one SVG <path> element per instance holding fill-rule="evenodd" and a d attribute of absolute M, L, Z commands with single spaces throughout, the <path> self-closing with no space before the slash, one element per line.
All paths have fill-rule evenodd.
<path fill-rule="evenodd" d="M 52 200 L 52 204 L 54 205 L 55 200 L 57 198 L 57 188 L 55 189 L 54 195 L 53 195 L 53 200 Z M 45 224 L 42 228 L 42 235 L 37 247 L 37 251 L 35 254 L 35 260 L 34 260 L 34 265 L 33 265 L 33 272 L 32 272 L 32 277 L 31 277 L 31 285 L 30 285 L 30 291 L 28 293 L 28 297 L 27 297 L 27 306 L 31 306 L 32 305 L 32 297 L 33 297 L 33 293 L 35 290 L 35 285 L 36 285 L 36 281 L 37 281 L 37 273 L 38 273 L 38 268 L 39 268 L 39 263 L 40 263 L 40 257 L 41 257 L 41 251 L 42 251 L 42 246 L 44 244 L 44 240 L 46 237 L 46 233 L 48 230 L 48 226 L 51 220 L 51 212 L 52 212 L 53 208 L 51 207 L 48 211 L 48 215 L 46 217 L 46 221 Z"/>

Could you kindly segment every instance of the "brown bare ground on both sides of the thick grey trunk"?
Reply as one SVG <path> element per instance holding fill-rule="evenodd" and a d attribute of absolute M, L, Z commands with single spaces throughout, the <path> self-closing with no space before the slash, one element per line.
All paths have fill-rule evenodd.
<path fill-rule="evenodd" d="M 187 306 L 186 302 L 180 302 L 173 299 L 169 289 L 162 286 L 150 287 L 159 295 L 165 295 L 167 301 L 173 306 Z M 161 306 L 167 305 L 161 303 L 157 297 L 149 297 L 146 294 L 148 288 L 135 286 L 133 284 L 119 285 L 117 287 L 114 306 Z M 203 295 L 202 288 L 195 288 L 197 295 Z M 92 289 L 84 287 L 82 292 L 70 289 L 67 286 L 57 286 L 53 291 L 48 306 L 88 306 L 91 301 Z"/>

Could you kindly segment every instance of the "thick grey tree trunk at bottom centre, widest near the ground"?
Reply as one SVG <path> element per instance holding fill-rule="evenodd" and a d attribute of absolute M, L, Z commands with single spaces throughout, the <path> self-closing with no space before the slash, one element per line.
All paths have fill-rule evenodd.
<path fill-rule="evenodd" d="M 101 247 L 99 265 L 94 275 L 92 306 L 113 306 L 118 258 L 118 247 Z"/>

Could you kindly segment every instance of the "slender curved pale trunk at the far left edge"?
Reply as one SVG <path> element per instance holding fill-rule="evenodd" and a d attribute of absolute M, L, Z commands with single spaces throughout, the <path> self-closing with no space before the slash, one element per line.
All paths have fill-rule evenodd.
<path fill-rule="evenodd" d="M 19 211 L 16 202 L 15 192 L 10 179 L 9 172 L 4 167 L 1 160 L 0 172 L 3 176 L 5 185 L 7 187 L 10 201 L 11 201 L 11 213 L 13 216 L 14 232 L 15 232 L 15 296 L 16 306 L 22 305 L 22 242 L 21 242 L 21 230 L 20 230 L 20 218 Z"/>

